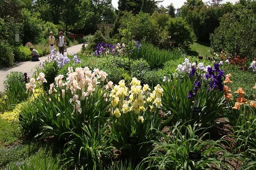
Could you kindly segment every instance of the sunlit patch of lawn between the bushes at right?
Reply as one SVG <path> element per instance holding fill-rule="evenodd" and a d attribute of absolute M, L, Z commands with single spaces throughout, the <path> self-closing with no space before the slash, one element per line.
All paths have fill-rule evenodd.
<path fill-rule="evenodd" d="M 213 57 L 212 54 L 209 53 L 210 44 L 207 42 L 194 42 L 190 45 L 191 50 L 188 52 L 190 56 L 202 56 L 202 57 Z"/>

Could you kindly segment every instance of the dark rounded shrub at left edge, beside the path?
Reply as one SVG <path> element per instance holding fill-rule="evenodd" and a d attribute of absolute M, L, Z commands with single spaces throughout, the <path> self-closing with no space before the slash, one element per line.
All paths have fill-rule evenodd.
<path fill-rule="evenodd" d="M 14 54 L 12 47 L 5 40 L 0 41 L 0 64 L 11 66 L 14 65 Z"/>

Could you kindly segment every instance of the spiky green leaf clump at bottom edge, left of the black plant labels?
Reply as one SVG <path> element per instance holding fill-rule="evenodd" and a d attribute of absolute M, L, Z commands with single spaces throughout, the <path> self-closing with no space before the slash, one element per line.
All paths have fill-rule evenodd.
<path fill-rule="evenodd" d="M 102 170 L 111 160 L 114 147 L 111 146 L 113 136 L 110 135 L 108 125 L 94 126 L 83 125 L 82 133 L 71 133 L 76 138 L 65 145 L 66 158 L 63 161 L 68 161 L 67 164 L 75 161 L 83 168 Z"/>

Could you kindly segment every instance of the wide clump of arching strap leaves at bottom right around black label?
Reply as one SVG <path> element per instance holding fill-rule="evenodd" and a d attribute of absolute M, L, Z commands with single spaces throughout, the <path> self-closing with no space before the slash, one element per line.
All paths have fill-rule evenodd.
<path fill-rule="evenodd" d="M 144 159 L 149 169 L 232 169 L 228 160 L 232 155 L 228 153 L 221 143 L 224 140 L 207 140 L 209 133 L 205 129 L 197 129 L 191 125 L 178 125 L 169 128 L 168 133 L 160 132 L 160 142 L 155 141 L 154 150 Z M 191 160 L 189 152 L 200 152 L 199 160 Z M 223 161 L 223 159 L 225 161 Z"/>

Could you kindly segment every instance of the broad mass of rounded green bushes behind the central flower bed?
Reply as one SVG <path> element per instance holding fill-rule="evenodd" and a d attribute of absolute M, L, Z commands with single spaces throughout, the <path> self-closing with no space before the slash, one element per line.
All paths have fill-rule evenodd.
<path fill-rule="evenodd" d="M 182 18 L 171 18 L 168 14 L 154 13 L 152 16 L 140 12 L 126 13 L 120 20 L 119 32 L 127 29 L 138 41 L 150 42 L 160 48 L 188 48 L 194 34 Z"/>

